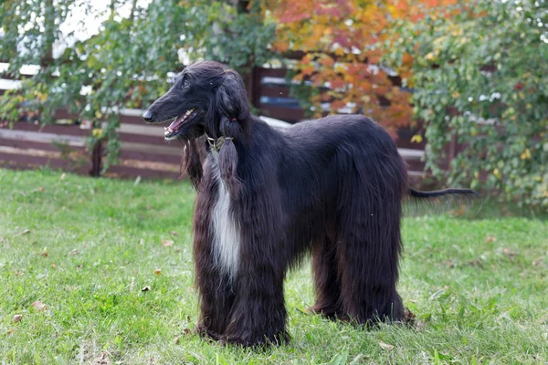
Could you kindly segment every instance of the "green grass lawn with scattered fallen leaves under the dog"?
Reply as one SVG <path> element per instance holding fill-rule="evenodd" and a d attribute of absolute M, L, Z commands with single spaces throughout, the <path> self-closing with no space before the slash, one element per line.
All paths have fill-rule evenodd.
<path fill-rule="evenodd" d="M 419 328 L 305 314 L 307 264 L 287 280 L 292 341 L 252 351 L 187 334 L 197 318 L 188 183 L 0 170 L 0 191 L 2 364 L 548 361 L 543 218 L 493 204 L 468 219 L 408 217 L 399 291 Z"/>

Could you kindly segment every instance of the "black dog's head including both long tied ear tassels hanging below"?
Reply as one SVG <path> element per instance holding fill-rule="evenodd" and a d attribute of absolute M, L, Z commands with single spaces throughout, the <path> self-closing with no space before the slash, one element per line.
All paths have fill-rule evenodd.
<path fill-rule="evenodd" d="M 239 192 L 233 140 L 248 130 L 250 114 L 246 89 L 236 71 L 213 61 L 196 62 L 176 76 L 172 88 L 154 101 L 142 118 L 149 123 L 171 121 L 164 128 L 164 138 L 184 141 L 183 166 L 196 188 L 202 179 L 202 164 L 195 140 L 204 133 L 214 140 L 225 137 L 218 151 L 218 166 L 229 191 Z"/>

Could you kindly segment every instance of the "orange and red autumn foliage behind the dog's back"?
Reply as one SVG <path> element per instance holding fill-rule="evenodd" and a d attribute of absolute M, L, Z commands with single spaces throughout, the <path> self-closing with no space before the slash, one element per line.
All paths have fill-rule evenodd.
<path fill-rule="evenodd" d="M 278 24 L 273 47 L 303 51 L 295 79 L 310 79 L 331 90 L 312 101 L 330 100 L 332 112 L 351 105 L 386 127 L 409 124 L 410 94 L 379 68 L 391 19 L 417 20 L 431 7 L 457 0 L 279 0 L 266 1 Z M 400 76 L 409 76 L 412 57 L 404 57 Z M 352 104 L 347 104 L 352 103 Z M 315 116 L 321 115 L 317 108 Z"/>

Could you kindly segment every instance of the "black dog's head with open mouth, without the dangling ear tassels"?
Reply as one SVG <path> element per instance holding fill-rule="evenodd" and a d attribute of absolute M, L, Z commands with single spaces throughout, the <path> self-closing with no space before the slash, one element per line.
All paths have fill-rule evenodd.
<path fill-rule="evenodd" d="M 165 95 L 144 111 L 148 123 L 170 121 L 165 140 L 236 137 L 249 118 L 248 98 L 236 71 L 213 61 L 184 68 Z"/>

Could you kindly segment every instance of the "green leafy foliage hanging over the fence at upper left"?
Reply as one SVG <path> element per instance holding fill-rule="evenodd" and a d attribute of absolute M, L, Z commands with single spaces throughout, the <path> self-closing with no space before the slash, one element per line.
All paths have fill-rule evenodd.
<path fill-rule="evenodd" d="M 0 10 L 0 59 L 9 62 L 7 73 L 20 78 L 23 65 L 41 68 L 0 99 L 0 118 L 16 120 L 23 101 L 37 100 L 31 108 L 41 111 L 44 122 L 64 107 L 93 120 L 88 146 L 95 157 L 106 152 L 105 170 L 117 162 L 120 110 L 159 97 L 170 72 L 183 68 L 180 56 L 216 59 L 240 70 L 265 62 L 274 26 L 263 21 L 260 7 L 247 3 L 154 0 L 141 7 L 136 0 L 111 0 L 98 9 L 91 0 L 6 0 Z M 127 5 L 131 11 L 121 17 Z M 53 57 L 54 46 L 73 33 L 63 33 L 62 26 L 81 8 L 88 17 L 104 19 L 99 32 Z M 97 163 L 93 170 L 100 173 Z"/>

